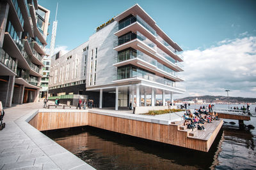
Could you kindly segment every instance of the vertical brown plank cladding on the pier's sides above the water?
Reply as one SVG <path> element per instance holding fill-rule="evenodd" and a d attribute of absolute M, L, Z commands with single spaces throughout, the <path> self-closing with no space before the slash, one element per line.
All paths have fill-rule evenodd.
<path fill-rule="evenodd" d="M 33 127 L 39 131 L 90 125 L 92 127 L 136 136 L 138 138 L 208 152 L 212 142 L 220 131 L 223 121 L 221 120 L 221 122 L 208 140 L 188 138 L 188 132 L 178 130 L 179 125 L 155 124 L 152 122 L 143 122 L 88 112 L 38 113 L 29 124 L 33 125 Z"/>

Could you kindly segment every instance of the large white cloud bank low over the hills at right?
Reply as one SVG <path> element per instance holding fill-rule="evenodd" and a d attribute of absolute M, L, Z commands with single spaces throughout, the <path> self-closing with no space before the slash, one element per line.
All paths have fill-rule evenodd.
<path fill-rule="evenodd" d="M 244 35 L 247 33 L 244 32 Z M 256 37 L 225 39 L 205 50 L 184 51 L 186 96 L 256 97 Z"/>

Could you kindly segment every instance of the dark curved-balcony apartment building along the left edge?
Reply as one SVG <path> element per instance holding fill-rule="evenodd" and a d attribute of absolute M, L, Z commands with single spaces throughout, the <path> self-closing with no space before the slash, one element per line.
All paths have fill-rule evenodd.
<path fill-rule="evenodd" d="M 0 100 L 37 101 L 50 11 L 36 0 L 0 2 Z"/>

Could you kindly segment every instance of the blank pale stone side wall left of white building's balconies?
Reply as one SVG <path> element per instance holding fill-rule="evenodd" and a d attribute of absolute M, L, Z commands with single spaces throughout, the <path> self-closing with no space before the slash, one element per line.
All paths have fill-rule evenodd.
<path fill-rule="evenodd" d="M 86 87 L 90 87 L 90 66 L 92 61 L 91 52 L 93 50 L 93 76 L 95 73 L 95 48 L 97 48 L 97 71 L 96 71 L 96 84 L 107 85 L 112 83 L 114 74 L 116 74 L 116 67 L 113 64 L 116 61 L 117 52 L 113 50 L 114 42 L 118 40 L 114 32 L 117 22 L 112 22 L 100 31 L 96 32 L 89 38 L 89 51 L 86 73 Z M 93 80 L 93 79 L 92 79 Z M 93 86 L 93 83 L 92 83 Z"/>

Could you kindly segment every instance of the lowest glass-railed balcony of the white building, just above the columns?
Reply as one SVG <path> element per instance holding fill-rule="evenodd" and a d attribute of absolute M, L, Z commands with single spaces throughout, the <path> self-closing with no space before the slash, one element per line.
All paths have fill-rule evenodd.
<path fill-rule="evenodd" d="M 115 83 L 119 83 L 119 82 L 124 83 L 127 81 L 130 84 L 131 81 L 145 80 L 153 84 L 164 85 L 165 87 L 169 87 L 169 88 L 171 87 L 171 88 L 177 89 L 176 83 L 174 81 L 168 80 L 160 76 L 156 76 L 155 74 L 148 73 L 141 69 L 132 68 L 126 71 L 118 70 L 118 73 L 114 76 L 115 78 L 113 82 Z M 177 89 L 177 90 L 184 92 L 184 90 L 182 89 Z"/>

